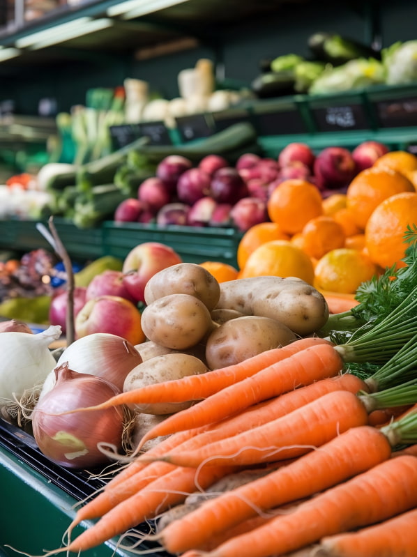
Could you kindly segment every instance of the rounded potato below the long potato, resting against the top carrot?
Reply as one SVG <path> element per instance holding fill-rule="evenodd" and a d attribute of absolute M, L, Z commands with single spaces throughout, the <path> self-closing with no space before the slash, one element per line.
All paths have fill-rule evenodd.
<path fill-rule="evenodd" d="M 293 331 L 270 317 L 245 315 L 213 330 L 206 342 L 206 362 L 218 369 L 296 340 Z"/>

